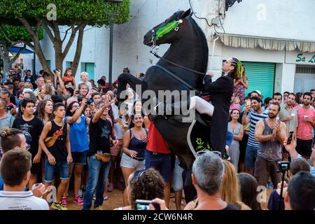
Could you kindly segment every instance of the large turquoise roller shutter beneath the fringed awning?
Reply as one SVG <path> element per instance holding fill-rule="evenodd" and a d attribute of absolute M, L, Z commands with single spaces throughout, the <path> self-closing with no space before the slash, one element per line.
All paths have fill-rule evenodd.
<path fill-rule="evenodd" d="M 243 64 L 248 78 L 248 90 L 245 90 L 245 97 L 254 90 L 260 90 L 264 99 L 272 97 L 276 64 L 264 62 L 243 62 Z"/>

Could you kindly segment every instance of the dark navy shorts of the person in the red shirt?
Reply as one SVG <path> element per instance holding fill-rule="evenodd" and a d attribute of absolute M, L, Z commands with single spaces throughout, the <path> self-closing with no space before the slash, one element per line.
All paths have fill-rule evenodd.
<path fill-rule="evenodd" d="M 146 169 L 154 168 L 160 172 L 165 183 L 171 182 L 171 155 L 164 153 L 153 153 L 146 150 Z"/>

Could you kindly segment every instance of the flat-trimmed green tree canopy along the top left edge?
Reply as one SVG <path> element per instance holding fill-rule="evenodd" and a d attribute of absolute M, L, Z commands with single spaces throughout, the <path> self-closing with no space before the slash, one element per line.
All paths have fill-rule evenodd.
<path fill-rule="evenodd" d="M 16 23 L 18 18 L 36 22 L 34 18 L 46 18 L 55 4 L 59 25 L 84 23 L 102 27 L 109 25 L 111 15 L 114 22 L 121 24 L 129 20 L 130 0 L 122 3 L 107 3 L 103 0 L 1 0 L 0 22 Z"/>

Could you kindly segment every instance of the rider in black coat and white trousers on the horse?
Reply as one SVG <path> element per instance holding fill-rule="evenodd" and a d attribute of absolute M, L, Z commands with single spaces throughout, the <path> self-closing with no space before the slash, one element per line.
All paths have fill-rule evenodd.
<path fill-rule="evenodd" d="M 213 151 L 225 152 L 228 133 L 230 101 L 234 91 L 234 78 L 242 72 L 242 64 L 235 57 L 223 63 L 223 76 L 212 82 L 213 73 L 204 77 L 204 92 L 211 94 L 211 104 L 200 97 L 190 99 L 190 109 L 212 117 L 211 146 Z"/>

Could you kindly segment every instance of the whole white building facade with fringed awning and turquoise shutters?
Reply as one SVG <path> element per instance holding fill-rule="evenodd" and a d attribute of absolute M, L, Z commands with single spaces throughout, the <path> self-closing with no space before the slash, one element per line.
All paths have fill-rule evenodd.
<path fill-rule="evenodd" d="M 209 72 L 218 77 L 223 61 L 237 57 L 246 66 L 247 92 L 260 90 L 265 97 L 271 97 L 273 92 L 307 92 L 315 88 L 314 0 L 243 0 L 228 10 L 225 1 L 228 0 L 190 0 L 197 16 L 216 23 L 209 27 L 194 17 L 209 43 Z M 176 10 L 188 8 L 188 0 L 132 0 L 130 21 L 114 27 L 113 80 L 125 67 L 134 74 L 145 73 L 157 62 L 143 44 L 144 34 Z M 85 30 L 76 80 L 80 71 L 87 71 L 94 80 L 103 75 L 109 78 L 109 29 Z M 215 31 L 219 38 L 211 55 Z M 52 43 L 48 36 L 42 42 L 48 64 L 55 69 Z M 75 43 L 64 60 L 64 68 L 73 61 Z M 168 45 L 161 45 L 158 54 L 167 48 Z M 31 59 L 26 57 L 30 56 L 23 59 L 25 69 L 31 68 Z M 36 71 L 39 70 L 41 65 L 36 59 Z"/>

